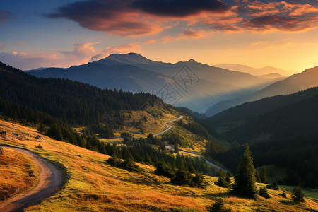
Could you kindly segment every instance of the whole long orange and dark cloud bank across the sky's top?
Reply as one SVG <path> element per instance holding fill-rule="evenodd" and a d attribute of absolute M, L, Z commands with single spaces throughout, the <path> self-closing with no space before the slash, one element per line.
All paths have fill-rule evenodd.
<path fill-rule="evenodd" d="M 157 35 L 184 26 L 206 33 L 288 32 L 318 28 L 318 1 L 86 0 L 57 8 L 48 18 L 67 18 L 110 35 Z M 187 33 L 184 34 L 184 36 Z M 176 37 L 168 35 L 166 37 Z M 196 37 L 196 36 L 188 36 Z"/>

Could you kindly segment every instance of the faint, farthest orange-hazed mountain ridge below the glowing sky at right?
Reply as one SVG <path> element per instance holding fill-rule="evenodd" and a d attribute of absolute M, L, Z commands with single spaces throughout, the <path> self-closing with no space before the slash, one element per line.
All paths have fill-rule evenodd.
<path fill-rule="evenodd" d="M 277 68 L 272 67 L 272 66 L 265 66 L 265 67 L 262 67 L 260 69 L 255 69 L 255 68 L 252 68 L 250 66 L 245 66 L 245 65 L 241 65 L 241 64 L 215 64 L 214 66 L 220 67 L 223 69 L 229 69 L 229 70 L 233 70 L 233 71 L 241 71 L 244 73 L 249 73 L 249 74 L 252 74 L 254 76 L 264 76 L 264 75 L 268 75 L 271 73 L 278 73 L 279 76 L 290 76 L 293 73 L 293 71 L 286 71 L 283 69 L 277 69 Z"/>

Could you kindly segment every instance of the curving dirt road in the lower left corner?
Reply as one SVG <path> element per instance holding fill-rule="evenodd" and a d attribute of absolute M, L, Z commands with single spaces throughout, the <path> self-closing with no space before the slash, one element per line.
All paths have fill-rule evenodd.
<path fill-rule="evenodd" d="M 3 147 L 19 151 L 29 155 L 35 164 L 40 167 L 40 179 L 37 185 L 25 194 L 18 195 L 0 203 L 0 211 L 23 211 L 31 205 L 39 204 L 43 199 L 56 192 L 61 187 L 61 172 L 52 163 L 41 158 L 39 155 L 20 148 Z M 5 153 L 5 152 L 4 152 Z"/>

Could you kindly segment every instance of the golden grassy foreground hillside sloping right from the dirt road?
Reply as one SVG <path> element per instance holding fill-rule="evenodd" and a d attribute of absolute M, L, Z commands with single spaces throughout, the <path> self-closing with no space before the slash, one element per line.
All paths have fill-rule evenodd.
<path fill-rule="evenodd" d="M 69 143 L 54 141 L 47 136 L 39 141 L 35 129 L 0 121 L 0 131 L 6 130 L 10 140 L 0 139 L 0 145 L 18 146 L 38 153 L 64 170 L 64 186 L 37 206 L 25 211 L 206 211 L 221 192 L 225 206 L 233 211 L 310 211 L 318 209 L 314 194 L 305 204 L 295 205 L 278 196 L 283 191 L 269 190 L 267 200 L 242 199 L 229 196 L 228 189 L 213 184 L 215 177 L 205 177 L 205 189 L 175 186 L 165 177 L 153 174 L 154 167 L 140 165 L 142 172 L 128 172 L 105 163 L 108 155 L 89 151 Z M 18 134 L 18 136 L 16 136 Z M 20 135 L 24 136 L 20 140 Z M 41 144 L 42 149 L 35 146 Z M 258 187 L 264 186 L 258 184 Z"/>

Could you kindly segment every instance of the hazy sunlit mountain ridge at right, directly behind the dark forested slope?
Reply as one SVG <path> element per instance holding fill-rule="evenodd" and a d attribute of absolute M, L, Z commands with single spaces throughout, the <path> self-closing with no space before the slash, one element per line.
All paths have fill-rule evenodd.
<path fill-rule="evenodd" d="M 214 114 L 218 114 L 223 110 L 234 107 L 235 105 L 240 105 L 244 102 L 260 100 L 261 98 L 266 98 L 274 95 L 288 95 L 298 92 L 299 90 L 306 90 L 308 88 L 317 87 L 317 78 L 318 66 L 311 69 L 306 69 L 305 71 L 302 71 L 302 73 L 294 74 L 284 79 L 283 81 L 273 83 L 270 86 L 266 86 L 265 88 L 245 97 L 218 102 L 216 105 L 208 108 L 205 114 L 207 117 L 211 117 Z"/>

